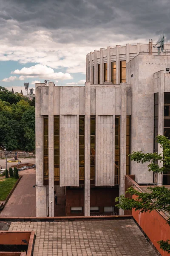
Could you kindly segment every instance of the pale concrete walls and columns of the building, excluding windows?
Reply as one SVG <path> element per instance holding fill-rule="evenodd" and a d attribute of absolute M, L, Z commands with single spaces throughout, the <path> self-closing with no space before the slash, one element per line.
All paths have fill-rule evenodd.
<path fill-rule="evenodd" d="M 165 44 L 165 51 L 168 47 L 170 45 Z M 59 186 L 84 189 L 82 207 L 85 216 L 89 216 L 93 208 L 91 116 L 95 116 L 96 120 L 93 189 L 103 189 L 108 186 L 118 189 L 119 195 L 125 193 L 127 116 L 131 116 L 130 151 L 153 152 L 154 93 L 159 93 L 159 134 L 164 134 L 164 92 L 170 92 L 170 78 L 166 72 L 166 68 L 170 67 L 170 55 L 168 52 L 157 55 L 156 49 L 153 49 L 153 55 L 149 55 L 148 49 L 148 44 L 126 44 L 125 47 L 117 45 L 114 48 L 108 47 L 91 52 L 86 56 L 87 82 L 82 86 L 77 84 L 58 86 L 53 82 L 36 84 L 37 216 L 46 216 L 48 211 L 49 216 L 54 216 L 54 116 L 58 115 L 60 120 Z M 124 83 L 120 83 L 120 61 L 125 61 L 126 64 Z M 111 82 L 113 72 L 111 62 L 116 62 L 116 84 Z M 107 63 L 107 81 L 104 81 L 105 63 Z M 100 64 L 100 73 L 98 64 Z M 43 179 L 43 116 L 48 116 L 48 185 L 44 185 Z M 79 116 L 85 116 L 83 186 L 79 183 Z M 115 149 L 116 116 L 120 117 L 119 156 L 116 156 L 118 150 Z M 159 152 L 161 152 L 160 148 Z M 115 166 L 118 158 L 119 182 L 115 183 Z M 147 163 L 131 162 L 130 174 L 135 175 L 137 183 L 153 183 L 153 173 L 147 171 Z M 157 179 L 158 184 L 161 185 L 162 175 Z M 69 189 L 66 190 L 69 192 Z M 104 189 L 103 192 L 105 193 Z M 107 205 L 103 202 L 104 206 Z M 119 214 L 122 215 L 123 211 L 119 211 Z"/>

